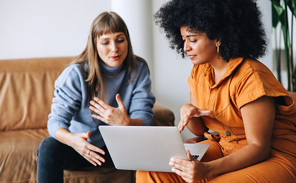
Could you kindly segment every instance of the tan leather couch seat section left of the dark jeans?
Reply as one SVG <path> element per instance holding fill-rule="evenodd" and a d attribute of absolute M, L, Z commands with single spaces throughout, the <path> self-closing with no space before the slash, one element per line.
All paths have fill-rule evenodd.
<path fill-rule="evenodd" d="M 36 150 L 47 129 L 0 132 L 0 182 L 36 182 Z"/>

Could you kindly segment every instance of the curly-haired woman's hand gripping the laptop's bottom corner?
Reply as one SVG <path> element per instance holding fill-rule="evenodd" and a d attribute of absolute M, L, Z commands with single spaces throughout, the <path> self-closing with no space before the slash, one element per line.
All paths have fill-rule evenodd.
<path fill-rule="evenodd" d="M 171 158 L 169 163 L 172 166 L 172 171 L 181 176 L 186 182 L 198 182 L 207 177 L 207 170 L 203 163 L 194 159 L 187 150 L 189 160 Z"/>

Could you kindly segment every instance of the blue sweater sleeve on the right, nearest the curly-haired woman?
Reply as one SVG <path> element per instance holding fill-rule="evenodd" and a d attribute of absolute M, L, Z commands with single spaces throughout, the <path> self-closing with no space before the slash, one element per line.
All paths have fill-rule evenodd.
<path fill-rule="evenodd" d="M 143 126 L 149 126 L 152 124 L 155 96 L 151 91 L 148 68 L 144 64 L 141 65 L 140 68 L 138 67 L 139 77 L 132 93 L 130 118 L 138 118 L 142 121 Z"/>

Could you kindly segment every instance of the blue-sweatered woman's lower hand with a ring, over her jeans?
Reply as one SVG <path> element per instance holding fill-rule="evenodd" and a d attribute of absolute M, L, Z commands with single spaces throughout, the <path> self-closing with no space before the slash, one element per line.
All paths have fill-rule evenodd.
<path fill-rule="evenodd" d="M 58 141 L 71 146 L 94 166 L 101 166 L 101 162 L 105 162 L 105 159 L 96 153 L 105 154 L 105 152 L 87 141 L 91 136 L 90 131 L 87 133 L 71 133 L 65 128 L 60 128 L 56 131 L 55 136 Z"/>

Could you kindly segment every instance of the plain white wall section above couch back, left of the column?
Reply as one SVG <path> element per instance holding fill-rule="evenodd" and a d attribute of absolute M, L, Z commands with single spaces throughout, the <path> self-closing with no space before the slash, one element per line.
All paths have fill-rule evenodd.
<path fill-rule="evenodd" d="M 78 55 L 93 19 L 110 6 L 102 0 L 0 0 L 0 59 Z"/>

